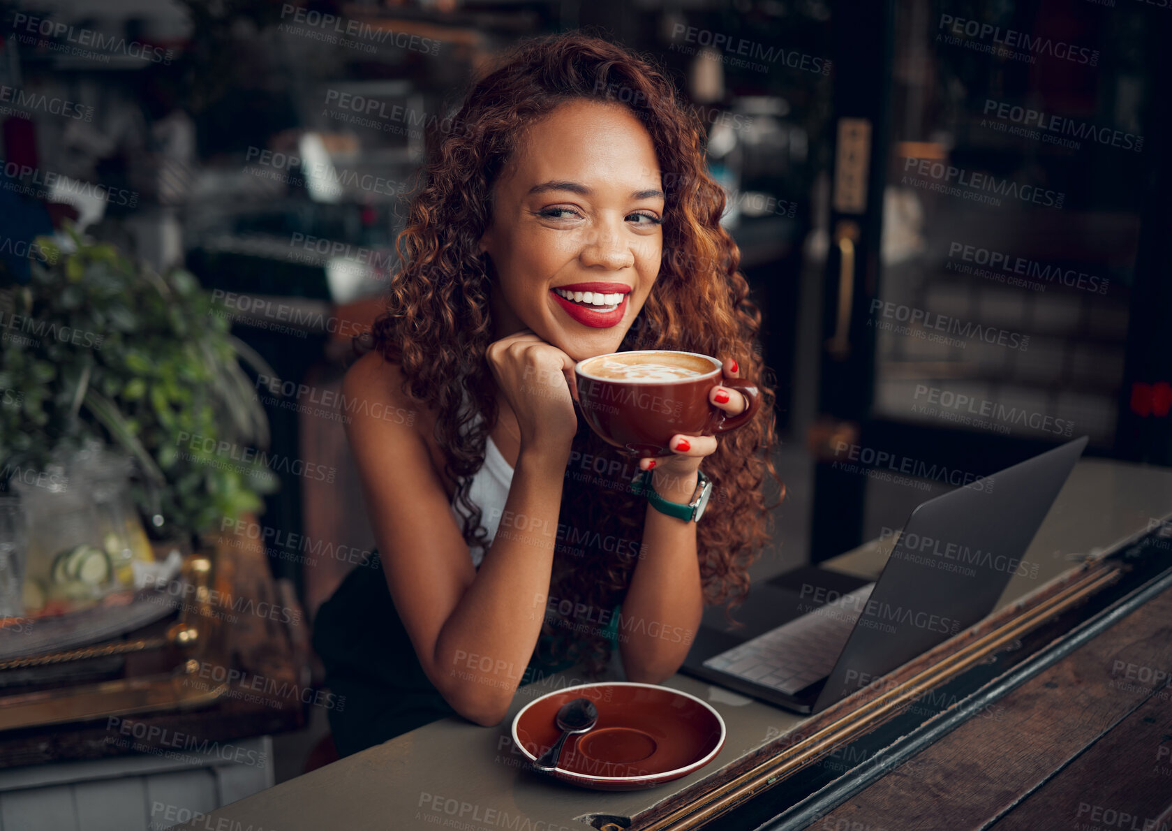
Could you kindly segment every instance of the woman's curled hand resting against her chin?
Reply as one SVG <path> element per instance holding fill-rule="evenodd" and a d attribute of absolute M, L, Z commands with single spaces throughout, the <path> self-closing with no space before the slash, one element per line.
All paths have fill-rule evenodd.
<path fill-rule="evenodd" d="M 497 389 L 517 416 L 522 448 L 565 452 L 578 431 L 574 360 L 523 329 L 489 345 Z"/>

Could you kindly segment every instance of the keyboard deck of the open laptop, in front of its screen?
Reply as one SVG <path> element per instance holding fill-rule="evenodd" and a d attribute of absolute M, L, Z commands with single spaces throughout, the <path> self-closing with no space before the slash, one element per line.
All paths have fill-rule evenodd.
<path fill-rule="evenodd" d="M 714 655 L 704 667 L 795 695 L 830 675 L 873 583 Z"/>

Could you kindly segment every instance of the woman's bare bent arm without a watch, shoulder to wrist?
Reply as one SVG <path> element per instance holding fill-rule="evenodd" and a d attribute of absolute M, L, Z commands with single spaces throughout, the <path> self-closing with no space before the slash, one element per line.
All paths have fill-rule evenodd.
<path fill-rule="evenodd" d="M 342 383 L 346 400 L 369 404 L 354 408 L 347 435 L 387 585 L 440 694 L 464 717 L 497 724 L 541 628 L 570 441 L 523 442 L 505 515 L 477 572 L 415 420 L 372 415 L 414 407 L 400 380 L 395 365 L 370 353 Z M 515 533 L 518 526 L 525 532 Z"/>

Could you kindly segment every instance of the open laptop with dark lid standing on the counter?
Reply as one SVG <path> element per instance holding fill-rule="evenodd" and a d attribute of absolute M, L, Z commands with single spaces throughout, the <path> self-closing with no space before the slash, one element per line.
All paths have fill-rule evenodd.
<path fill-rule="evenodd" d="M 727 646 L 730 635 L 702 627 L 683 670 L 816 713 L 967 629 L 1023 567 L 1086 441 L 921 503 L 874 583 L 844 585 L 851 578 L 808 568 L 813 577 L 791 585 L 798 617 L 789 622 L 720 649 L 714 645 Z"/>

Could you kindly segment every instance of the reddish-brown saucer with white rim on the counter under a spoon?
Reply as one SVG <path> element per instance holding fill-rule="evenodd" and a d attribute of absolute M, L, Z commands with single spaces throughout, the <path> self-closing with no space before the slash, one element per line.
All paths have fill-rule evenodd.
<path fill-rule="evenodd" d="M 724 721 L 696 696 L 612 681 L 560 689 L 523 707 L 513 718 L 512 738 L 529 761 L 558 741 L 558 709 L 573 699 L 594 702 L 598 724 L 566 740 L 550 774 L 582 788 L 653 788 L 703 768 L 724 744 Z"/>

